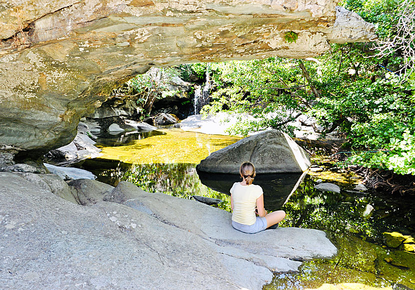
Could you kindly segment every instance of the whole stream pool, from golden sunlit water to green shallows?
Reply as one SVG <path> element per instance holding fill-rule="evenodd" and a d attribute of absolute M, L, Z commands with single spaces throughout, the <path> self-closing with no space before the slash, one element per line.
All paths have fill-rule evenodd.
<path fill-rule="evenodd" d="M 97 146 L 103 155 L 77 166 L 113 186 L 127 180 L 149 192 L 220 198 L 223 202 L 214 206 L 230 211 L 228 191 L 240 177 L 198 174 L 195 166 L 239 139 L 178 128 L 100 135 Z M 318 159 L 313 163 L 327 166 Z M 341 192 L 316 190 L 318 178 L 339 185 Z M 324 230 L 338 249 L 333 259 L 305 261 L 299 272 L 274 273 L 264 290 L 415 288 L 415 253 L 403 250 L 402 245 L 387 247 L 382 235 L 386 231 L 415 237 L 412 198 L 354 191 L 356 177 L 346 173 L 257 174 L 254 183 L 263 188 L 268 211 L 287 213 L 280 226 Z"/>

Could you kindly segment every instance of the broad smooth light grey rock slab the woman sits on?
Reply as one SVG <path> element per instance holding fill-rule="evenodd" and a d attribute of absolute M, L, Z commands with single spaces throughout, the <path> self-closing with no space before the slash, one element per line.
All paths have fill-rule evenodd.
<path fill-rule="evenodd" d="M 259 290 L 272 271 L 336 253 L 319 230 L 246 234 L 230 212 L 125 185 L 116 189 L 121 203 L 81 206 L 0 172 L 2 288 Z"/>

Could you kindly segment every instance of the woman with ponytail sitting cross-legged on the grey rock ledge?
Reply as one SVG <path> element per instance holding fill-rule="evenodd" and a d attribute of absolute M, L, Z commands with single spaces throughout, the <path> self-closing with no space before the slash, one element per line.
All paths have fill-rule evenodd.
<path fill-rule="evenodd" d="M 232 226 L 246 233 L 255 233 L 280 222 L 285 217 L 285 211 L 277 210 L 267 213 L 263 207 L 261 186 L 252 184 L 256 175 L 253 164 L 243 162 L 239 173 L 242 181 L 233 183 L 230 188 Z"/>

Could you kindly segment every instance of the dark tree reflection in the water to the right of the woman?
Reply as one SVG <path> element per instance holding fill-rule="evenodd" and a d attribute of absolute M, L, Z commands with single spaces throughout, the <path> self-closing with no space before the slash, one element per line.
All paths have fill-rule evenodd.
<path fill-rule="evenodd" d="M 385 230 L 406 228 L 409 232 L 413 231 L 413 221 L 410 221 L 413 209 L 405 206 L 405 201 L 397 204 L 397 200 L 363 192 L 321 192 L 314 188 L 314 184 L 312 178 L 307 176 L 291 195 L 284 205 L 287 212 L 284 224 L 321 229 L 329 232 L 333 238 L 337 235 L 360 234 L 378 242 L 381 242 L 381 232 Z M 364 217 L 367 204 L 371 204 L 374 211 L 372 215 Z"/>

